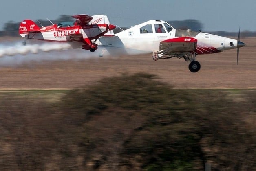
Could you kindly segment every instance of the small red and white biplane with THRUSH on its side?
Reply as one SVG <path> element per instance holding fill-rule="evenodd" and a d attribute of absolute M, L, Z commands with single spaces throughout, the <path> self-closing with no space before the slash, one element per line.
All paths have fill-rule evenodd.
<path fill-rule="evenodd" d="M 109 23 L 106 15 L 73 15 L 76 19 L 71 24 L 53 24 L 46 27 L 39 27 L 31 20 L 23 20 L 20 23 L 19 33 L 26 39 L 39 39 L 57 42 L 80 42 L 85 50 L 94 52 L 98 45 L 92 40 L 97 40 L 108 31 L 115 29 Z M 26 42 L 23 42 L 26 45 Z"/>

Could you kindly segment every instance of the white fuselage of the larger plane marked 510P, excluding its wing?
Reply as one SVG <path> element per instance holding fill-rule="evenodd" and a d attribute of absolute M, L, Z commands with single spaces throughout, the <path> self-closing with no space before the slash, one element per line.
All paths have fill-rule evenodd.
<path fill-rule="evenodd" d="M 155 29 L 159 25 L 162 26 L 162 33 L 157 33 L 157 29 Z M 159 51 L 159 42 L 175 37 L 193 37 L 197 39 L 197 46 L 194 51 L 196 55 L 217 53 L 243 46 L 243 44 L 237 44 L 238 41 L 236 39 L 228 37 L 199 31 L 174 29 L 170 24 L 162 20 L 150 20 L 116 33 L 114 36 L 100 37 L 97 43 L 106 46 L 154 52 Z"/>

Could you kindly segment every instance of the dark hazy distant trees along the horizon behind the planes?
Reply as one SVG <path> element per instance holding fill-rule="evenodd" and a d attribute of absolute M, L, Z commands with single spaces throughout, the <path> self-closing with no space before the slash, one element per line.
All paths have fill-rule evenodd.
<path fill-rule="evenodd" d="M 72 18 L 70 15 L 60 15 L 57 20 L 51 20 L 53 23 L 59 23 L 59 22 L 65 22 L 65 21 L 75 21 L 74 18 Z M 49 26 L 51 25 L 51 22 L 48 20 L 36 20 L 35 21 L 39 26 L 42 24 L 42 26 Z M 188 20 L 173 20 L 173 21 L 168 21 L 175 29 L 191 29 L 192 31 L 203 31 L 203 24 L 199 20 L 194 20 L 194 19 L 188 19 Z M 18 30 L 19 30 L 20 22 L 13 22 L 9 21 L 4 24 L 4 30 L 0 31 L 0 36 L 19 36 Z M 125 30 L 128 29 L 129 27 L 121 27 L 121 29 Z M 121 31 L 121 29 L 116 28 L 114 29 L 114 33 L 118 33 Z M 237 37 L 238 33 L 237 32 L 226 32 L 226 31 L 211 31 L 210 33 L 220 35 L 220 36 L 225 36 L 225 37 Z M 255 37 L 256 36 L 256 31 L 242 31 L 241 32 L 241 37 Z"/>

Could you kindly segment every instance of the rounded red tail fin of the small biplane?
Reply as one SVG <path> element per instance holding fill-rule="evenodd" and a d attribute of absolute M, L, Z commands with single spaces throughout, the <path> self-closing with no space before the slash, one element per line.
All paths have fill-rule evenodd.
<path fill-rule="evenodd" d="M 38 25 L 35 24 L 32 20 L 23 20 L 20 23 L 19 27 L 19 33 L 22 37 L 25 37 L 28 33 L 33 33 L 33 32 L 39 32 L 40 29 Z"/>

